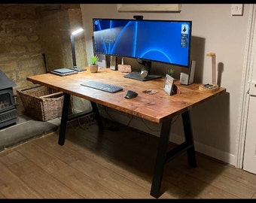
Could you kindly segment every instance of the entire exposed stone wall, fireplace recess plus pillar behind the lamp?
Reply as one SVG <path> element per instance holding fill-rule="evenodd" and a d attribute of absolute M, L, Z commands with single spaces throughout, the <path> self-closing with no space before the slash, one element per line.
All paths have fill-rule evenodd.
<path fill-rule="evenodd" d="M 0 68 L 17 84 L 14 90 L 35 86 L 28 76 L 72 67 L 70 33 L 76 26 L 82 26 L 80 8 L 0 5 Z M 77 65 L 87 66 L 84 35 L 75 39 L 75 50 Z"/>

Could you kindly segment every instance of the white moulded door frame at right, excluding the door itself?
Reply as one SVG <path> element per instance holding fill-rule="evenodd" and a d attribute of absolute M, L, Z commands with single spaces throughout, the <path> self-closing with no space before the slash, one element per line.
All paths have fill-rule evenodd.
<path fill-rule="evenodd" d="M 242 168 L 243 158 L 245 151 L 245 137 L 246 137 L 246 127 L 248 118 L 248 105 L 249 97 L 248 94 L 250 80 L 252 77 L 253 68 L 256 69 L 254 65 L 254 57 L 256 56 L 256 5 L 251 4 L 248 15 L 248 29 L 247 38 L 245 44 L 245 58 L 243 65 L 242 74 L 242 88 L 241 88 L 241 98 L 239 104 L 239 124 L 238 124 L 238 136 L 236 140 L 236 168 Z"/>

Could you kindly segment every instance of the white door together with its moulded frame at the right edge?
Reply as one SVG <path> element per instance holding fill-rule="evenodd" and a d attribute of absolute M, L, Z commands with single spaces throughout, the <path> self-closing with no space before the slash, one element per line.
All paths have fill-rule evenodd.
<path fill-rule="evenodd" d="M 256 174 L 256 5 L 249 5 L 236 167 Z"/>

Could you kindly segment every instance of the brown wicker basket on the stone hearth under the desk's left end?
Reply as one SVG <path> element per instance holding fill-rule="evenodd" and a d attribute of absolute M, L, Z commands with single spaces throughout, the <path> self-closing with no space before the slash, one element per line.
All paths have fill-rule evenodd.
<path fill-rule="evenodd" d="M 47 121 L 61 117 L 64 100 L 63 92 L 46 86 L 35 86 L 17 90 L 27 114 L 37 120 Z"/>

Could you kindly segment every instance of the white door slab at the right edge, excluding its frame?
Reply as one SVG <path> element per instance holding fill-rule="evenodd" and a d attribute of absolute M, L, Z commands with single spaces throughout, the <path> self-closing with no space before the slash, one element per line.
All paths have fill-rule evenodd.
<path fill-rule="evenodd" d="M 256 57 L 254 54 L 254 65 L 252 80 L 249 85 L 248 118 L 245 135 L 245 153 L 243 169 L 256 174 Z"/>

